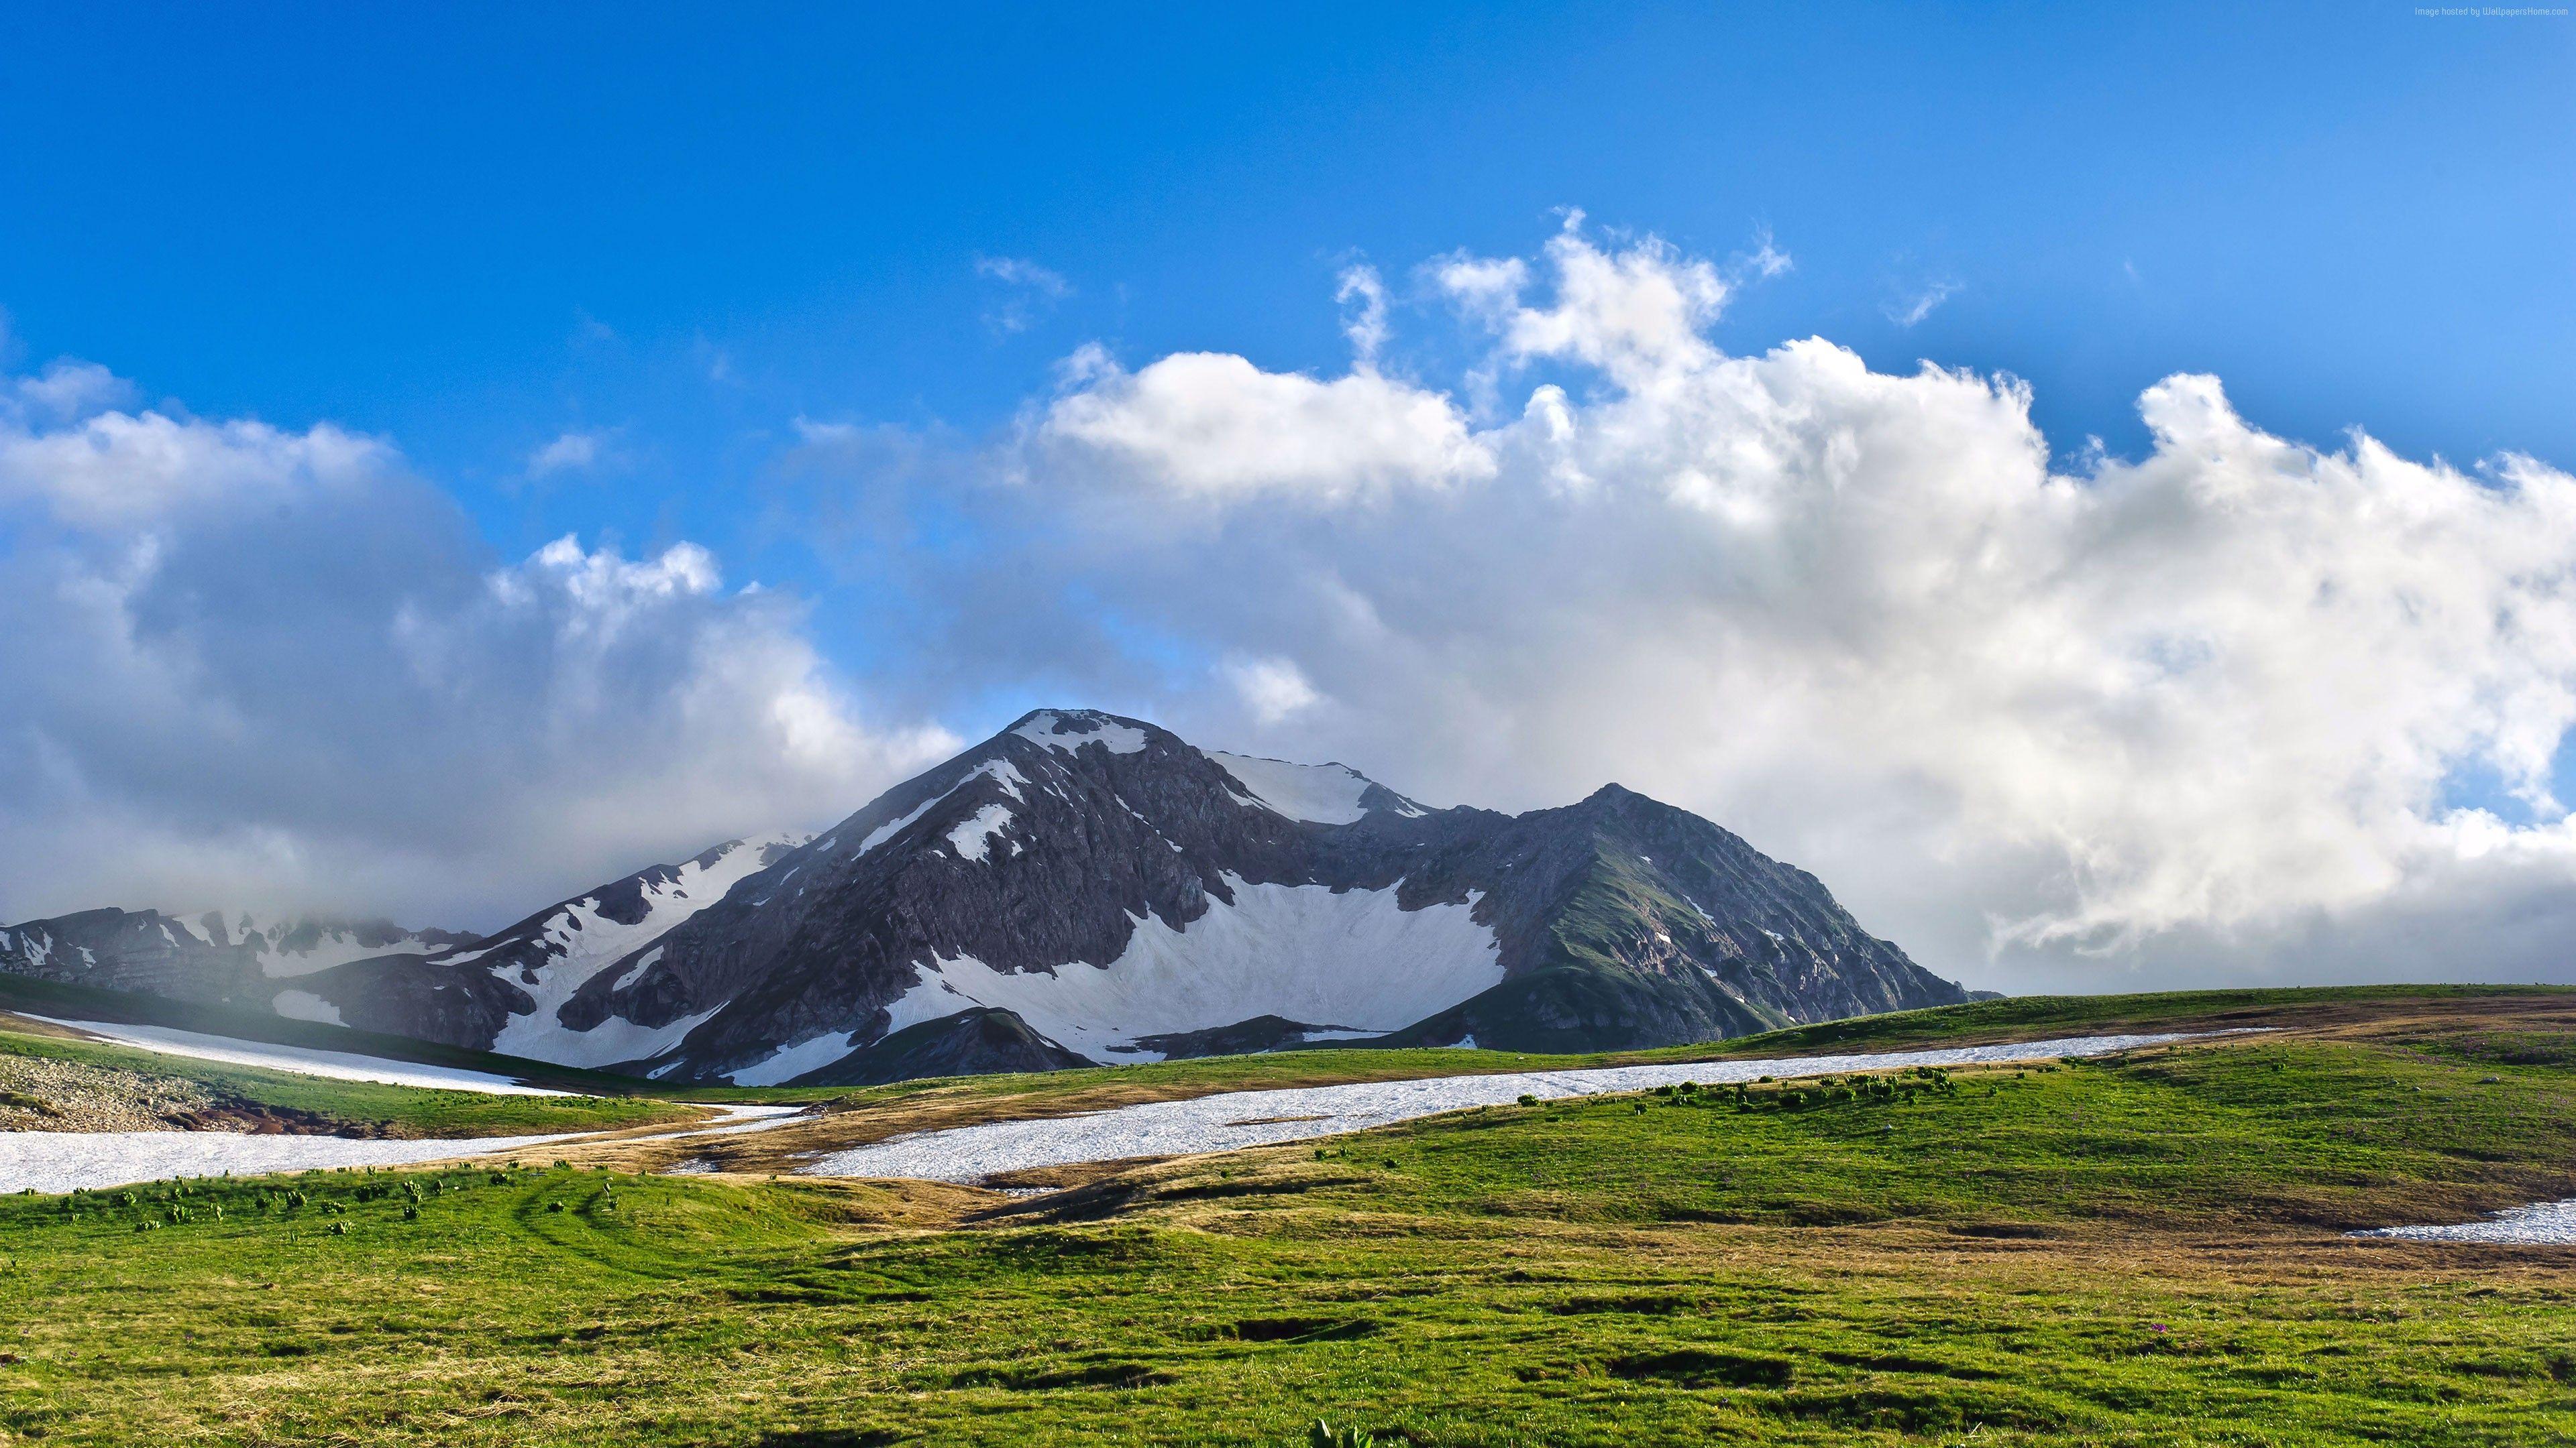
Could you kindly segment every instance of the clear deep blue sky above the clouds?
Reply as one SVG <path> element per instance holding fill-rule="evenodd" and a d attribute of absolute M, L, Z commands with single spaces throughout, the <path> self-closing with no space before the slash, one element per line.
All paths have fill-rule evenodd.
<path fill-rule="evenodd" d="M 2061 448 L 2215 371 L 2303 441 L 2576 459 L 2576 26 L 930 10 L 23 10 L 0 307 L 147 397 L 386 433 L 515 551 L 752 551 L 724 484 L 765 433 L 987 428 L 1079 340 L 1332 368 L 1345 258 L 1522 252 L 1558 206 L 1703 255 L 1767 227 L 1798 265 L 1721 345 L 2004 368 Z M 979 258 L 1074 294 L 994 335 Z M 613 487 L 523 484 L 567 428 L 618 433 Z"/>

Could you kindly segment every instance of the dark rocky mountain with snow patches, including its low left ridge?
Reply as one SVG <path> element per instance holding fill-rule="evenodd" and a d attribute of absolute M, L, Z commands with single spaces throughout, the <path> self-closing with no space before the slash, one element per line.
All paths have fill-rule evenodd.
<path fill-rule="evenodd" d="M 1095 711 L 1030 714 L 819 837 L 719 845 L 487 938 L 250 956 L 206 987 L 118 953 L 152 943 L 149 912 L 13 935 L 62 971 L 95 917 L 77 946 L 108 979 L 54 979 L 265 989 L 289 1015 L 739 1085 L 1319 1041 L 1620 1049 L 1965 1000 L 1806 871 L 1618 786 L 1427 809 Z"/>

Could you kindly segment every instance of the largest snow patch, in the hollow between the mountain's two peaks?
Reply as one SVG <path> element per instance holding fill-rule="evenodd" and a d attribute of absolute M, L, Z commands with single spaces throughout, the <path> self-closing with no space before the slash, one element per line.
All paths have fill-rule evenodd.
<path fill-rule="evenodd" d="M 1494 933 L 1466 904 L 1404 910 L 1394 889 L 1244 884 L 1188 928 L 1146 915 L 1108 966 L 997 971 L 940 958 L 889 1013 L 889 1031 L 976 1005 L 1002 1007 L 1095 1062 L 1159 1062 L 1139 1036 L 1208 1031 L 1255 1015 L 1399 1031 L 1502 984 Z M 739 1080 L 739 1077 L 737 1077 Z"/>

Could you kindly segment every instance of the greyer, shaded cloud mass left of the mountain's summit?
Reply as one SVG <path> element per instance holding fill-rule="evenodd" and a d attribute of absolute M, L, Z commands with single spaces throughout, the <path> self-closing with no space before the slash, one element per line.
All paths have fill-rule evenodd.
<path fill-rule="evenodd" d="M 0 415 L 0 917 L 497 925 L 953 742 L 698 546 L 505 562 L 376 438 L 54 412 Z"/>

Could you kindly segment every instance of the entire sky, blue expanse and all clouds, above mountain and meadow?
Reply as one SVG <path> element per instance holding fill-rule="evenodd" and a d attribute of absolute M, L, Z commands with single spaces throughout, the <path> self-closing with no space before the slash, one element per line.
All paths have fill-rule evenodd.
<path fill-rule="evenodd" d="M 2576 21 L 920 10 L 10 15 L 0 381 L 129 386 L 0 392 L 0 917 L 466 920 L 1097 703 L 2002 984 L 2576 920 Z"/>

